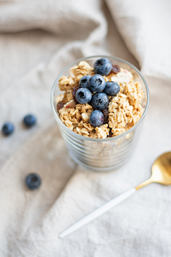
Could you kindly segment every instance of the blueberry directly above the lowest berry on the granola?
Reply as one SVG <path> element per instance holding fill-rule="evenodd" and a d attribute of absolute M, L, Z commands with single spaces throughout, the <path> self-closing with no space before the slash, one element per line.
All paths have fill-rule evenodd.
<path fill-rule="evenodd" d="M 108 106 L 108 96 L 105 93 L 95 93 L 92 96 L 90 104 L 94 109 L 103 110 Z"/>

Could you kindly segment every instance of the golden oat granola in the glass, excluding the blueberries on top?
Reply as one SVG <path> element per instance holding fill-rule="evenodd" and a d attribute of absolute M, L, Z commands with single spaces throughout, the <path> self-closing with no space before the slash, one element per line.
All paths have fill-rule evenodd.
<path fill-rule="evenodd" d="M 74 97 L 80 79 L 86 75 L 93 76 L 93 68 L 86 61 L 81 61 L 71 68 L 70 76 L 62 76 L 59 80 L 58 86 L 65 92 L 56 98 L 57 111 L 68 129 L 89 138 L 107 138 L 120 135 L 138 122 L 142 116 L 140 101 L 143 98 L 140 83 L 133 81 L 129 71 L 114 65 L 110 74 L 103 78 L 106 82 L 117 82 L 120 92 L 116 96 L 108 96 L 108 107 L 102 111 L 105 124 L 95 128 L 91 126 L 89 118 L 93 107 L 79 104 Z"/>

